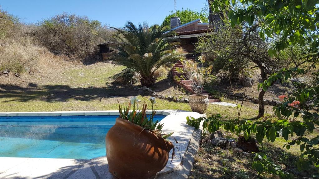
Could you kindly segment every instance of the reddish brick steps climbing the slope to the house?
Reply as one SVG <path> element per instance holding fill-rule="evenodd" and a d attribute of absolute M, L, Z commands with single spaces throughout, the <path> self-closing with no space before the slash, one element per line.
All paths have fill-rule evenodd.
<path fill-rule="evenodd" d="M 172 69 L 172 74 L 173 74 L 173 80 L 174 82 L 176 82 L 177 84 L 179 84 L 180 86 L 182 86 L 184 89 L 186 89 L 187 91 L 189 91 L 191 94 L 196 94 L 195 91 L 193 90 L 192 87 L 192 81 L 191 80 L 181 80 L 180 82 L 176 81 L 174 79 L 175 76 L 181 77 L 182 74 L 176 71 L 177 67 L 181 67 L 183 68 L 184 66 L 182 65 L 181 61 L 177 61 Z M 214 102 L 219 102 L 219 99 L 214 99 L 214 96 L 212 96 L 211 93 L 209 93 L 207 90 L 203 90 L 203 94 L 204 95 L 208 95 L 208 99 L 210 103 L 214 103 Z"/>

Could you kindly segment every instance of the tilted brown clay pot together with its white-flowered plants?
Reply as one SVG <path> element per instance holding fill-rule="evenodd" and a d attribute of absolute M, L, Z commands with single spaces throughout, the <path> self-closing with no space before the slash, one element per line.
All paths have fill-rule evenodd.
<path fill-rule="evenodd" d="M 144 103 L 138 111 L 140 100 L 132 97 L 127 106 L 119 105 L 119 118 L 106 135 L 106 152 L 110 173 L 120 179 L 146 179 L 156 175 L 168 161 L 174 145 L 166 140 L 163 124 L 153 121 L 155 98 L 150 97 L 152 114 L 146 115 Z M 133 110 L 131 110 L 131 107 Z"/>

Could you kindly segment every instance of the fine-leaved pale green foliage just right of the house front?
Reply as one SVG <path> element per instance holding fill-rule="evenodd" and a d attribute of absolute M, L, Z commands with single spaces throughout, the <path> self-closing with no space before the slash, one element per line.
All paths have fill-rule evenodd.
<path fill-rule="evenodd" d="M 242 45 L 242 29 L 240 25 L 230 28 L 228 19 L 222 19 L 217 34 L 198 39 L 196 52 L 205 54 L 208 61 L 212 61 L 215 72 L 227 71 L 232 79 L 238 79 L 250 65 L 244 54 L 246 48 Z"/>

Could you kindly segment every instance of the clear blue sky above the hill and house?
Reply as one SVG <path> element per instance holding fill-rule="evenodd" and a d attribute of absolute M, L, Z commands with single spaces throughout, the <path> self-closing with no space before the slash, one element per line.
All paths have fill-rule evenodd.
<path fill-rule="evenodd" d="M 176 0 L 177 10 L 200 11 L 205 5 L 207 0 Z M 160 24 L 169 11 L 174 11 L 174 0 L 0 0 L 0 6 L 25 23 L 36 23 L 64 11 L 121 27 L 127 20 Z"/>

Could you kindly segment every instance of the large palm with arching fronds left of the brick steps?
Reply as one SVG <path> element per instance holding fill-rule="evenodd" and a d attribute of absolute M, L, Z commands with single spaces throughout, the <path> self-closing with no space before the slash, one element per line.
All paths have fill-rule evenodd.
<path fill-rule="evenodd" d="M 184 58 L 182 48 L 176 48 L 179 42 L 172 42 L 167 37 L 174 35 L 168 26 L 146 23 L 138 27 L 128 21 L 123 28 L 115 28 L 115 37 L 119 43 L 115 55 L 117 65 L 131 68 L 140 75 L 143 86 L 150 87 L 156 81 L 156 70 L 168 62 Z"/>

